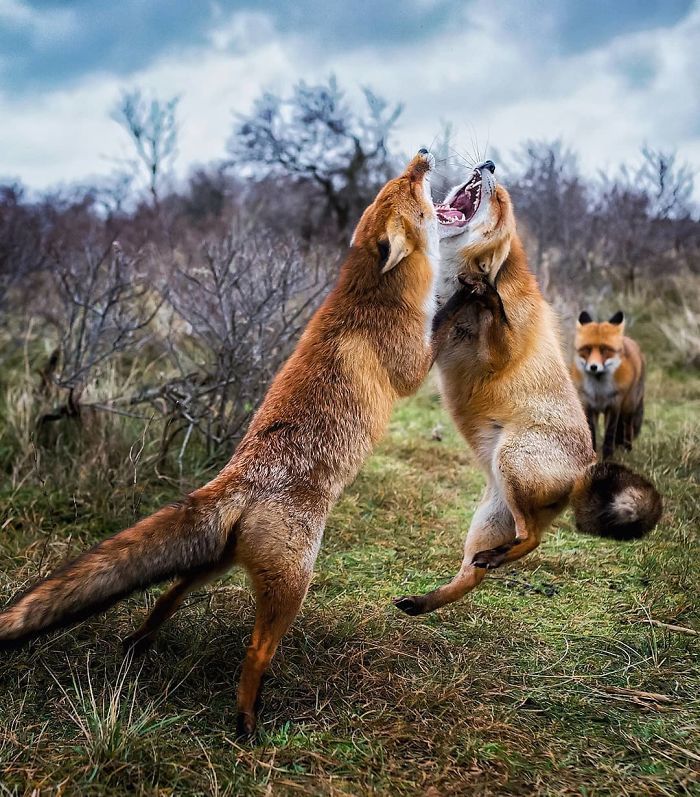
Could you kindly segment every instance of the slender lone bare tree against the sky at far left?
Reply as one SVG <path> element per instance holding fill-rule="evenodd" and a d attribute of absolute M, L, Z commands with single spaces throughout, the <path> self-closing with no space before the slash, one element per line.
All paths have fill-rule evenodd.
<path fill-rule="evenodd" d="M 136 149 L 145 171 L 154 208 L 158 208 L 162 183 L 177 156 L 177 106 L 179 97 L 147 98 L 140 89 L 125 91 L 112 112 Z"/>

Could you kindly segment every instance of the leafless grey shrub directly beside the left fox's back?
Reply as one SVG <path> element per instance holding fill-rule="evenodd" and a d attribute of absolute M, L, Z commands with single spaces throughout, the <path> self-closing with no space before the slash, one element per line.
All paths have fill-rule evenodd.
<path fill-rule="evenodd" d="M 293 241 L 256 232 L 253 220 L 239 219 L 224 238 L 175 258 L 164 339 L 175 376 L 130 402 L 148 402 L 167 418 L 164 454 L 180 436 L 181 464 L 193 432 L 209 455 L 230 449 L 328 280 L 323 250 L 302 255 Z"/>

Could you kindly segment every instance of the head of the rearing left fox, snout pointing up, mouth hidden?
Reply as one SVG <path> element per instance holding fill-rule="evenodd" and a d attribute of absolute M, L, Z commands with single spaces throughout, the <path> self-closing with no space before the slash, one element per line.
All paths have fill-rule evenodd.
<path fill-rule="evenodd" d="M 390 180 L 362 214 L 351 246 L 371 255 L 380 274 L 414 252 L 438 257 L 437 219 L 430 198 L 435 158 L 421 149 L 402 175 Z"/>

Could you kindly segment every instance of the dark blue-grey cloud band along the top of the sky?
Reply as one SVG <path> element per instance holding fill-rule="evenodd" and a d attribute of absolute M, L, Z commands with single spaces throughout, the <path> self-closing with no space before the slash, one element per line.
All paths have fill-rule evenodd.
<path fill-rule="evenodd" d="M 0 77 L 5 93 L 26 95 L 95 73 L 128 77 L 155 60 L 203 48 L 232 14 L 263 12 L 274 29 L 304 36 L 315 50 L 401 48 L 448 32 L 465 9 L 473 24 L 497 20 L 541 55 L 576 53 L 634 31 L 672 25 L 692 0 L 0 0 Z M 466 68 L 457 63 L 456 68 Z"/>

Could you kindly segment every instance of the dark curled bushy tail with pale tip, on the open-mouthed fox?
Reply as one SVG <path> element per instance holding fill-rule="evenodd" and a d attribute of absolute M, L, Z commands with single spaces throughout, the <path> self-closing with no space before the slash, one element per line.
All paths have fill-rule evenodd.
<path fill-rule="evenodd" d="M 615 462 L 589 465 L 571 494 L 576 528 L 614 540 L 636 540 L 659 522 L 663 505 L 654 485 Z"/>

